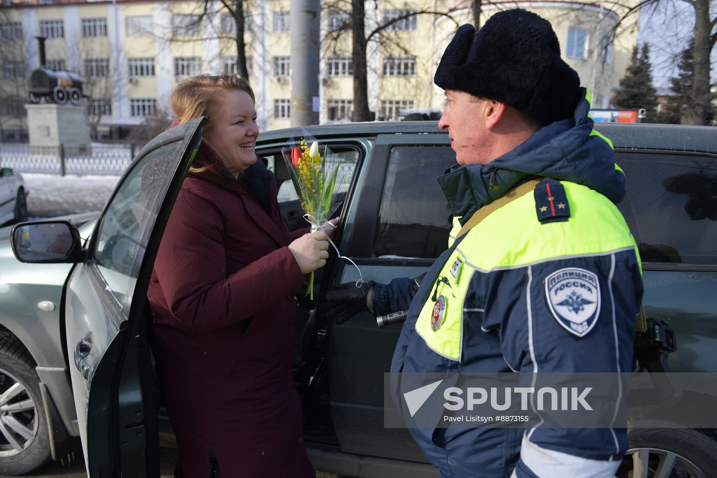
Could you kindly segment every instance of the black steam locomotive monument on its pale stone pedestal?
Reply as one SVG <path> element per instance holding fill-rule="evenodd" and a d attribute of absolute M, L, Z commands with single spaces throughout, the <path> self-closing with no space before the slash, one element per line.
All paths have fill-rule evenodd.
<path fill-rule="evenodd" d="M 73 72 L 46 67 L 45 38 L 36 38 L 40 66 L 30 74 L 29 104 L 25 105 L 30 149 L 33 154 L 90 154 L 90 132 L 82 108 L 82 78 Z"/>

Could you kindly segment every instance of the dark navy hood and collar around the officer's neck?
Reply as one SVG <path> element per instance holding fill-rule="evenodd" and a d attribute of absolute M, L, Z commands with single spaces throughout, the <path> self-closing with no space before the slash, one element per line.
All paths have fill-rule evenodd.
<path fill-rule="evenodd" d="M 625 197 L 625 174 L 615 164 L 612 142 L 594 131 L 587 91 L 573 119 L 536 131 L 520 146 L 488 164 L 448 169 L 438 183 L 461 222 L 530 179 L 550 177 L 594 189 L 617 204 Z"/>

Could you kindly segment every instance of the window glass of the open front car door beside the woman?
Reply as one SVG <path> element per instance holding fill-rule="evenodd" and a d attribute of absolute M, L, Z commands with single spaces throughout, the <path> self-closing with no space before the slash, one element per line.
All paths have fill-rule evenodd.
<path fill-rule="evenodd" d="M 100 220 L 92 258 L 109 288 L 129 311 L 149 233 L 160 204 L 166 177 L 176 168 L 181 141 L 151 151 L 125 176 Z"/>

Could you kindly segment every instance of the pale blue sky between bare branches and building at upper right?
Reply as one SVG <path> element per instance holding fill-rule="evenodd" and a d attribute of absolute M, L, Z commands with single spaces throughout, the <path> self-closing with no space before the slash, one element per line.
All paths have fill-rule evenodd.
<path fill-rule="evenodd" d="M 711 17 L 717 0 L 711 0 Z M 638 42 L 650 43 L 655 88 L 669 88 L 680 53 L 687 47 L 695 22 L 694 9 L 686 1 L 662 0 L 654 9 L 640 12 Z M 717 78 L 717 48 L 712 51 L 712 78 Z"/>

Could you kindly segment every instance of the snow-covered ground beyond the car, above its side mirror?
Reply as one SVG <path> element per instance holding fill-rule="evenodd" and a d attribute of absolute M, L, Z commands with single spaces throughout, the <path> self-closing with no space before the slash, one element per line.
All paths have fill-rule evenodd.
<path fill-rule="evenodd" d="M 29 189 L 30 217 L 53 217 L 75 212 L 99 211 L 110 198 L 120 176 L 22 173 Z"/>

